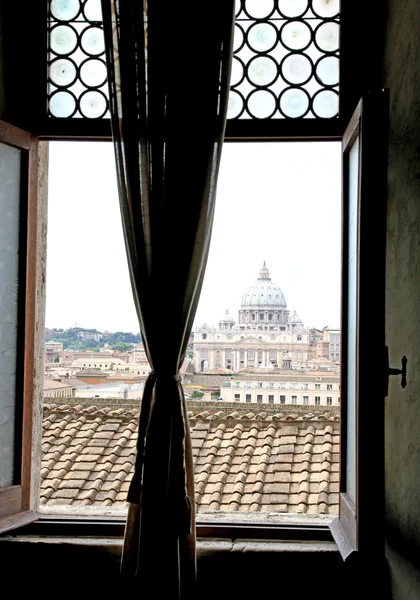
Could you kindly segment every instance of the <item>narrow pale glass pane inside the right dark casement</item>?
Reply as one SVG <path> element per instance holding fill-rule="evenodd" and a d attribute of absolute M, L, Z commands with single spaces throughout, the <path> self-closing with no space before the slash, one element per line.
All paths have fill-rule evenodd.
<path fill-rule="evenodd" d="M 356 386 L 357 386 L 357 261 L 358 261 L 359 138 L 349 156 L 349 264 L 347 345 L 347 474 L 346 491 L 356 502 Z"/>

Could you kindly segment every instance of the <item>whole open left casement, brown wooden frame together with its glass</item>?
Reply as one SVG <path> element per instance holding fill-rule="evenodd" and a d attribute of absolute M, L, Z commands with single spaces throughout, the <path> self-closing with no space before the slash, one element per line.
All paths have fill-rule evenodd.
<path fill-rule="evenodd" d="M 36 519 L 32 510 L 31 485 L 34 484 L 37 139 L 0 122 L 0 162 L 3 279 L 0 306 L 0 413 L 3 416 L 0 419 L 0 532 L 3 532 Z"/>

